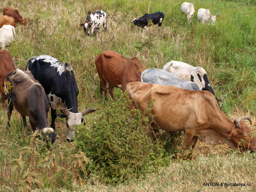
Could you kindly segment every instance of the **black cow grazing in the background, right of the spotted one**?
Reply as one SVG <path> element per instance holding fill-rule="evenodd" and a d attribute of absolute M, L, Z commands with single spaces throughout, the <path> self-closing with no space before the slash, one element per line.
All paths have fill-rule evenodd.
<path fill-rule="evenodd" d="M 132 23 L 142 28 L 146 28 L 150 20 L 154 25 L 158 24 L 158 26 L 161 27 L 164 20 L 164 13 L 161 11 L 152 14 L 145 13 L 142 17 L 133 19 Z"/>

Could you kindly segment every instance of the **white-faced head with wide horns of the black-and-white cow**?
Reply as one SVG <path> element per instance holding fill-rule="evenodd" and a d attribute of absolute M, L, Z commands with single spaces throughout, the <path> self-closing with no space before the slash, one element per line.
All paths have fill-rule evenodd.
<path fill-rule="evenodd" d="M 67 141 L 73 141 L 72 138 L 75 138 L 76 132 L 77 132 L 77 128 L 75 127 L 75 125 L 80 125 L 83 116 L 87 115 L 88 113 L 95 112 L 96 109 L 90 108 L 90 109 L 84 110 L 80 113 L 72 113 L 69 110 L 67 110 L 66 108 L 62 107 L 62 108 L 60 108 L 60 111 L 63 114 L 57 114 L 57 116 L 67 118 L 66 119 L 66 128 L 67 128 L 66 139 L 67 139 Z"/>

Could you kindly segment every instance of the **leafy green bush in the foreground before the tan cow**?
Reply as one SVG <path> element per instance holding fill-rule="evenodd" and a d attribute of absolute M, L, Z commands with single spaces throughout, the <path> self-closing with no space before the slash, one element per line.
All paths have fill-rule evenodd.
<path fill-rule="evenodd" d="M 170 161 L 163 146 L 151 144 L 144 131 L 150 126 L 146 123 L 149 117 L 135 110 L 127 122 L 131 113 L 128 103 L 127 97 L 116 102 L 110 98 L 105 114 L 95 119 L 92 127 L 78 128 L 75 147 L 90 159 L 87 171 L 98 176 L 103 183 L 138 178 L 153 171 L 155 166 L 166 166 Z"/>

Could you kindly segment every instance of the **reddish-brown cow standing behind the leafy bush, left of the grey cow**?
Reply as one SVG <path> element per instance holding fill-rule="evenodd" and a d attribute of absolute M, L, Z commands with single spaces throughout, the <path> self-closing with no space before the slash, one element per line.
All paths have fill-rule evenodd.
<path fill-rule="evenodd" d="M 129 82 L 141 80 L 141 62 L 137 57 L 127 59 L 114 51 L 104 51 L 95 59 L 95 65 L 100 77 L 100 93 L 104 91 L 105 100 L 107 99 L 106 82 L 109 84 L 109 93 L 115 100 L 113 87 L 121 88 L 125 91 L 125 86 Z"/>

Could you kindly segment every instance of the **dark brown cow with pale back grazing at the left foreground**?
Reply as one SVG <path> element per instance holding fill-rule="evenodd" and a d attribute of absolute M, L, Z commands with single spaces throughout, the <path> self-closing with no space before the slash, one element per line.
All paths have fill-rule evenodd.
<path fill-rule="evenodd" d="M 8 103 L 10 103 L 7 112 L 7 126 L 10 127 L 10 117 L 13 106 L 15 106 L 16 110 L 22 115 L 24 126 L 26 125 L 26 116 L 28 116 L 33 131 L 36 131 L 36 127 L 38 127 L 39 130 L 43 131 L 44 135 L 49 136 L 53 144 L 55 137 L 58 137 L 58 135 L 47 125 L 47 113 L 50 106 L 42 85 L 34 79 L 30 71 L 22 71 L 20 69 L 15 69 L 15 71 L 8 73 L 5 78 L 5 82 L 7 81 L 12 86 L 9 87 L 5 84 Z M 50 133 L 47 133 L 48 130 Z"/>

